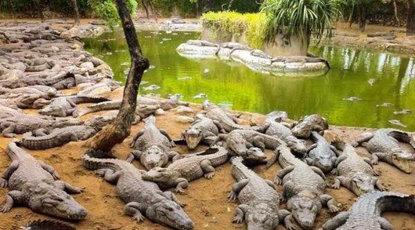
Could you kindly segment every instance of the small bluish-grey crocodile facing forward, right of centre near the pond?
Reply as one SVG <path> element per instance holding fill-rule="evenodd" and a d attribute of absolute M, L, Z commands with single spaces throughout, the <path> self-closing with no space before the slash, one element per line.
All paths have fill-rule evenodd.
<path fill-rule="evenodd" d="M 329 173 L 333 170 L 335 161 L 339 155 L 337 149 L 315 131 L 311 132 L 311 140 L 315 144 L 312 144 L 308 148 L 308 155 L 304 160 L 306 160 L 307 164 L 316 166 L 324 173 Z"/>

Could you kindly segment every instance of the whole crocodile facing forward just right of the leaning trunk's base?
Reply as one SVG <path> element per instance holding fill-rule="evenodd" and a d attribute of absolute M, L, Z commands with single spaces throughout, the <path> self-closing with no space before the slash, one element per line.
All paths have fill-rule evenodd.
<path fill-rule="evenodd" d="M 130 144 L 133 151 L 127 157 L 127 162 L 140 160 L 147 170 L 156 166 L 165 166 L 178 153 L 170 151 L 175 144 L 169 134 L 156 127 L 156 117 L 150 115 L 144 128 L 133 136 Z"/>

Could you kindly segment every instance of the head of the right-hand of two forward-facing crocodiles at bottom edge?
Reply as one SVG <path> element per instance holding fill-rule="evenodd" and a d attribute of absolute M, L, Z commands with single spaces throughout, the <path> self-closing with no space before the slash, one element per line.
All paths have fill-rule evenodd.
<path fill-rule="evenodd" d="M 322 204 L 315 193 L 305 190 L 289 199 L 287 207 L 303 229 L 313 229 L 315 217 L 320 213 Z"/>

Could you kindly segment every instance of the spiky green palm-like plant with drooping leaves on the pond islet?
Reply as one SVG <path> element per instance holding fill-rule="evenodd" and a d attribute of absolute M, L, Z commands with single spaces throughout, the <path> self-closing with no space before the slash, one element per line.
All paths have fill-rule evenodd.
<path fill-rule="evenodd" d="M 324 35 L 331 37 L 335 19 L 340 15 L 338 0 L 266 0 L 261 12 L 267 17 L 266 39 L 275 35 L 297 35 L 308 46 L 313 35 L 320 41 Z"/>

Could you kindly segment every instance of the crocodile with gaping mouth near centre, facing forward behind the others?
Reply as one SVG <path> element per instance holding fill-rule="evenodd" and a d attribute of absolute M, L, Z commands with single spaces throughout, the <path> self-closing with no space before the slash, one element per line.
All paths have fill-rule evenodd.
<path fill-rule="evenodd" d="M 176 144 L 185 143 L 187 147 L 194 149 L 200 143 L 211 146 L 216 142 L 219 131 L 223 132 L 221 124 L 201 114 L 196 117 L 198 119 L 182 133 L 182 139 L 174 141 Z"/>

